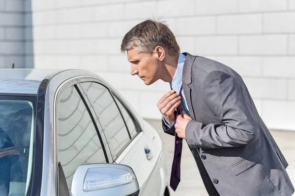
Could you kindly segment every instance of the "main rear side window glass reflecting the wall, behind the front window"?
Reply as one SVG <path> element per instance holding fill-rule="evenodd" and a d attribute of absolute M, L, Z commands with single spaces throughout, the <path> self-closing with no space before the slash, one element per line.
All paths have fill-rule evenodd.
<path fill-rule="evenodd" d="M 131 139 L 116 102 L 109 90 L 103 85 L 95 82 L 82 84 L 86 88 L 89 98 L 94 102 L 95 109 L 102 120 L 101 123 L 105 125 L 115 153 L 118 155 Z"/>

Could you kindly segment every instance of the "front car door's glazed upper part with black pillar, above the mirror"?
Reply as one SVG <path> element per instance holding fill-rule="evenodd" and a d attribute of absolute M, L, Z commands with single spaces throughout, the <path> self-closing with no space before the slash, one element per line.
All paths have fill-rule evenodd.
<path fill-rule="evenodd" d="M 71 191 L 79 166 L 109 162 L 106 138 L 100 134 L 102 127 L 95 122 L 93 109 L 83 94 L 77 85 L 65 86 L 56 104 L 59 195 Z"/>

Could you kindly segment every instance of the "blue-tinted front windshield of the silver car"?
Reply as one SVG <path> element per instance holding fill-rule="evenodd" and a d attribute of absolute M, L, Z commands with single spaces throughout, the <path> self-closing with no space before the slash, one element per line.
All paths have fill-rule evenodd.
<path fill-rule="evenodd" d="M 0 96 L 0 195 L 25 196 L 32 170 L 34 99 Z"/>

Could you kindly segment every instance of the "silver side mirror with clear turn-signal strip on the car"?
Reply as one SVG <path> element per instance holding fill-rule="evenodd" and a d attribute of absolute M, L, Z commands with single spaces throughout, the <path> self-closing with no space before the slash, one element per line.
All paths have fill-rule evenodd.
<path fill-rule="evenodd" d="M 73 177 L 72 196 L 138 196 L 139 185 L 133 170 L 119 164 L 80 166 Z"/>

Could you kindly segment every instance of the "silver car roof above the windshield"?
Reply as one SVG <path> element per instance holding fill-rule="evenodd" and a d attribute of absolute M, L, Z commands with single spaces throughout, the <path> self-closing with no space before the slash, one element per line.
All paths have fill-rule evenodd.
<path fill-rule="evenodd" d="M 37 94 L 42 80 L 62 70 L 0 69 L 0 94 Z"/>

